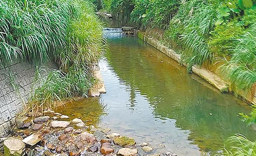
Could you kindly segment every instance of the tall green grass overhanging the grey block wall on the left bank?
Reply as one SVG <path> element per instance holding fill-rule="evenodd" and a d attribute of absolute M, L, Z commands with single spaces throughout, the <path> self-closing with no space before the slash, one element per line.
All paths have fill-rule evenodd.
<path fill-rule="evenodd" d="M 27 108 L 32 115 L 35 109 L 51 108 L 56 100 L 86 96 L 93 85 L 90 67 L 103 49 L 101 22 L 91 2 L 0 1 L 1 67 L 15 60 L 38 65 L 53 60 L 59 65 L 59 70 L 53 70 L 47 77 L 36 75 L 40 85 L 33 88 L 35 93 Z"/>

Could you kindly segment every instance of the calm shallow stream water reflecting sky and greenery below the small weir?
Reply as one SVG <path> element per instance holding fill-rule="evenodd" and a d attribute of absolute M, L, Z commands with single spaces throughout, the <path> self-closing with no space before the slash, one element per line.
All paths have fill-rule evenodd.
<path fill-rule="evenodd" d="M 256 140 L 239 112 L 249 106 L 206 81 L 137 37 L 112 36 L 99 61 L 107 93 L 68 104 L 63 114 L 149 142 L 153 153 L 214 155 L 224 140 L 242 133 Z"/>

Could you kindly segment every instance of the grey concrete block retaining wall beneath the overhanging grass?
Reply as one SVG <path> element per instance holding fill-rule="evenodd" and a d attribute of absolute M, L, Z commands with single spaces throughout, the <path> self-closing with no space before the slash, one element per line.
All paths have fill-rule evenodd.
<path fill-rule="evenodd" d="M 45 63 L 46 72 L 57 66 Z M 15 123 L 16 114 L 28 102 L 36 66 L 28 62 L 16 62 L 0 69 L 0 141 L 8 135 Z"/>

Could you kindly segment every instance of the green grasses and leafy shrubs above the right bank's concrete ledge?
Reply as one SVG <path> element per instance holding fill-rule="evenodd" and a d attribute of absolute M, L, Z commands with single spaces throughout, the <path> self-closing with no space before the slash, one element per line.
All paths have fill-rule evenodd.
<path fill-rule="evenodd" d="M 256 0 L 103 0 L 102 7 L 129 16 L 134 25 L 164 31 L 162 40 L 182 47 L 192 65 L 223 62 L 231 85 L 250 91 L 256 82 Z"/>

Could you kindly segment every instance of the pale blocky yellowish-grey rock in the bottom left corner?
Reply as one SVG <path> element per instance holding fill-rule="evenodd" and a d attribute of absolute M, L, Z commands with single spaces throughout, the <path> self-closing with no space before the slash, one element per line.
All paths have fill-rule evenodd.
<path fill-rule="evenodd" d="M 5 156 L 21 156 L 25 151 L 25 144 L 16 137 L 9 137 L 4 141 Z"/>

